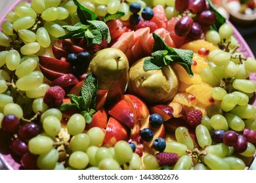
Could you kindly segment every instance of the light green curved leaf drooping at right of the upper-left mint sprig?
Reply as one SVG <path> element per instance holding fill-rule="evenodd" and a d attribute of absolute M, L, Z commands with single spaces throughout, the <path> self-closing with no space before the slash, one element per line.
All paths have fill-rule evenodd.
<path fill-rule="evenodd" d="M 111 37 L 110 37 L 110 31 L 108 29 L 108 25 L 106 25 L 104 22 L 100 20 L 88 20 L 87 22 L 93 25 L 100 32 L 102 37 L 106 39 L 106 42 L 110 43 Z"/>

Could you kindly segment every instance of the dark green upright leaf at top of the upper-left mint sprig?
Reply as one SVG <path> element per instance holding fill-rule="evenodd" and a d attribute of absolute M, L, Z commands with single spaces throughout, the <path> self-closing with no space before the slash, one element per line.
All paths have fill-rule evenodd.
<path fill-rule="evenodd" d="M 77 6 L 77 16 L 82 24 L 88 24 L 87 20 L 96 20 L 98 16 L 89 8 L 85 8 L 77 0 L 73 0 L 74 4 Z"/>

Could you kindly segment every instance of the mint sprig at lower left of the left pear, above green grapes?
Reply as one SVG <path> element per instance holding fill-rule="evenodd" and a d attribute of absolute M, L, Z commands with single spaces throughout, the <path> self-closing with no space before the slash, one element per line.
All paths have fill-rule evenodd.
<path fill-rule="evenodd" d="M 87 75 L 80 90 L 80 95 L 69 94 L 71 103 L 60 105 L 60 110 L 80 110 L 87 124 L 91 123 L 96 110 L 96 96 L 98 93 L 98 80 L 92 73 Z"/>

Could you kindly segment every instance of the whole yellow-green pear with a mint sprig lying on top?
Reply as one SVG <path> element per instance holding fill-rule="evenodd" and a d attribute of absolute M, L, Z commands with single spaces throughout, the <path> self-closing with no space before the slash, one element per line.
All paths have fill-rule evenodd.
<path fill-rule="evenodd" d="M 179 79 L 170 65 L 146 71 L 144 58 L 135 62 L 129 71 L 128 91 L 146 103 L 168 103 L 179 89 Z"/>

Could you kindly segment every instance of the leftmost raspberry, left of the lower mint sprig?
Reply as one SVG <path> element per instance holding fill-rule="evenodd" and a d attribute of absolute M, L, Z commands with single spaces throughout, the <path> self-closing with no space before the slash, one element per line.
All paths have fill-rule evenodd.
<path fill-rule="evenodd" d="M 66 93 L 60 86 L 52 86 L 46 92 L 43 97 L 43 102 L 49 106 L 49 108 L 59 107 L 62 105 L 63 99 Z"/>

